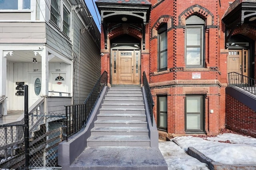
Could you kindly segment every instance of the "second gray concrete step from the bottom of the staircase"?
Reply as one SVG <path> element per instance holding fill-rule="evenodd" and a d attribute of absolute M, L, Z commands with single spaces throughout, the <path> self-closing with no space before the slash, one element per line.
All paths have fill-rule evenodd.
<path fill-rule="evenodd" d="M 146 127 L 94 127 L 92 136 L 100 135 L 148 135 L 148 128 Z"/>

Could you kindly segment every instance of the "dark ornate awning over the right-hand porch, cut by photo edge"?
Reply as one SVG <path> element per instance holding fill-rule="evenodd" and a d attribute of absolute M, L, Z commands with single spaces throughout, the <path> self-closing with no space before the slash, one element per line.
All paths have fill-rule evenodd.
<path fill-rule="evenodd" d="M 235 0 L 226 10 L 222 21 L 225 23 L 225 44 L 228 48 L 228 41 L 236 27 L 244 23 L 256 25 L 256 0 Z"/>

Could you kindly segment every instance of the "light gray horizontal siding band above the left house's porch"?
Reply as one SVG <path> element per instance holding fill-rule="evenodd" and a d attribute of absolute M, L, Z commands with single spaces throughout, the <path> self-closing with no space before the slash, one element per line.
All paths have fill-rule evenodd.
<path fill-rule="evenodd" d="M 46 43 L 44 22 L 1 22 L 1 43 Z"/>

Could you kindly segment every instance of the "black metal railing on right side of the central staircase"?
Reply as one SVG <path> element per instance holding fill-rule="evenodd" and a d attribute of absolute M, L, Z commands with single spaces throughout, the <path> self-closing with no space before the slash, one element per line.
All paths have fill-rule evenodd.
<path fill-rule="evenodd" d="M 151 125 L 153 126 L 153 118 L 154 118 L 153 107 L 154 107 L 154 101 L 153 101 L 153 98 L 152 98 L 152 94 L 151 94 L 150 87 L 149 87 L 149 84 L 148 84 L 148 79 L 146 77 L 146 73 L 145 72 L 143 72 L 143 77 L 142 78 L 143 78 L 143 84 L 144 84 L 144 87 L 145 87 L 146 98 L 147 98 L 147 102 L 148 102 L 148 109 L 149 109 L 149 113 L 150 113 Z"/>

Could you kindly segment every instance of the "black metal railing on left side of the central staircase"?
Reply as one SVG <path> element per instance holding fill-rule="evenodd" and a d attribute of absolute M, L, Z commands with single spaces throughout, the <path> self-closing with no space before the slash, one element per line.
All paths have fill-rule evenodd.
<path fill-rule="evenodd" d="M 85 127 L 88 118 L 90 117 L 91 111 L 98 100 L 100 93 L 104 86 L 107 85 L 108 73 L 104 71 L 96 82 L 94 88 L 86 98 L 84 104 L 68 105 L 66 107 L 66 141 L 68 137 L 77 133 Z"/>

